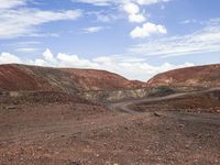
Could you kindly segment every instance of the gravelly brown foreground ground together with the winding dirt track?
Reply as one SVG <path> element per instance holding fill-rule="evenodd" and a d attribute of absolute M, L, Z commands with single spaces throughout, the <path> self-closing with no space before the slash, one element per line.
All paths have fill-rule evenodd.
<path fill-rule="evenodd" d="M 4 111 L 0 164 L 218 165 L 220 116 L 160 109 L 155 116 L 155 111 L 140 113 L 129 108 L 194 94 L 118 102 L 110 106 L 113 112 L 99 107 L 91 111 L 82 105 L 74 110 L 75 105 Z"/>

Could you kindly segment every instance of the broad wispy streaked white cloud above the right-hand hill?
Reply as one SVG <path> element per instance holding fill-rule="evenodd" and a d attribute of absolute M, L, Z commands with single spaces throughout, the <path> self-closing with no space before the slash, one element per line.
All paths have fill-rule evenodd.
<path fill-rule="evenodd" d="M 163 57 L 220 52 L 220 20 L 211 20 L 201 30 L 180 36 L 169 36 L 132 46 L 134 54 Z"/>

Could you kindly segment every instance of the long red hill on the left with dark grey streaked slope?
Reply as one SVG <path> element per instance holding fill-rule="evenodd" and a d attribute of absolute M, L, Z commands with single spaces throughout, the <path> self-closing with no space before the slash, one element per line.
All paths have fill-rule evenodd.
<path fill-rule="evenodd" d="M 133 89 L 145 85 L 105 70 L 0 65 L 0 90 L 7 91 L 77 92 Z"/>

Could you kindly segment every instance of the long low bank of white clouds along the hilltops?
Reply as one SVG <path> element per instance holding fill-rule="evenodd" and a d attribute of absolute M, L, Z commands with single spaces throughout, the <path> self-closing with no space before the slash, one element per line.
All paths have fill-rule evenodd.
<path fill-rule="evenodd" d="M 185 63 L 183 65 L 172 65 L 169 63 L 164 63 L 160 66 L 153 66 L 145 62 L 143 58 L 128 56 L 99 56 L 94 59 L 86 59 L 79 57 L 78 55 L 68 55 L 64 53 L 58 53 L 56 56 L 54 56 L 48 48 L 40 58 L 36 59 L 22 59 L 10 53 L 0 54 L 0 64 L 8 63 L 22 63 L 53 67 L 105 69 L 120 74 L 129 79 L 140 79 L 144 81 L 146 81 L 155 74 L 194 65 L 191 63 Z"/>

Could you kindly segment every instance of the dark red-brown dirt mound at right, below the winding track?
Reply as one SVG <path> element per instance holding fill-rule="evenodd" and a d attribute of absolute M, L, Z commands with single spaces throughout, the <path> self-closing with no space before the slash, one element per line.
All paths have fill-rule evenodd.
<path fill-rule="evenodd" d="M 182 96 L 156 102 L 146 102 L 131 106 L 136 111 L 187 111 L 220 113 L 220 90 L 205 94 Z"/>

